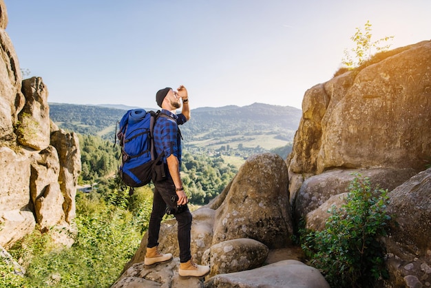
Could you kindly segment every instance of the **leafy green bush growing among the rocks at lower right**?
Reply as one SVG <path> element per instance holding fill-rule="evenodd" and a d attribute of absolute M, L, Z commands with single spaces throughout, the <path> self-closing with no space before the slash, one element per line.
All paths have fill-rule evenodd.
<path fill-rule="evenodd" d="M 378 240 L 387 235 L 390 220 L 387 191 L 372 189 L 370 179 L 359 176 L 350 183 L 346 203 L 328 211 L 324 230 L 302 231 L 308 265 L 322 271 L 330 287 L 372 287 L 388 276 Z"/>

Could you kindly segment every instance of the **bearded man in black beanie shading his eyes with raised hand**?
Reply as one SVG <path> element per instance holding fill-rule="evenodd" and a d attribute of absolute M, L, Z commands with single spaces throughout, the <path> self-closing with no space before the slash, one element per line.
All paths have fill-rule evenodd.
<path fill-rule="evenodd" d="M 189 97 L 187 90 L 180 85 L 178 92 L 171 88 L 159 90 L 156 93 L 156 102 L 162 108 L 156 124 L 154 125 L 154 146 L 157 155 L 162 154 L 165 178 L 154 181 L 153 209 L 149 219 L 148 245 L 145 254 L 145 265 L 167 262 L 172 254 L 161 254 L 158 251 L 158 234 L 160 222 L 168 207 L 178 222 L 178 244 L 180 246 L 180 276 L 203 277 L 209 274 L 208 266 L 196 265 L 191 260 L 190 232 L 192 216 L 187 207 L 189 200 L 182 187 L 180 178 L 181 167 L 181 134 L 178 125 L 190 119 Z M 181 107 L 182 112 L 176 114 Z"/>

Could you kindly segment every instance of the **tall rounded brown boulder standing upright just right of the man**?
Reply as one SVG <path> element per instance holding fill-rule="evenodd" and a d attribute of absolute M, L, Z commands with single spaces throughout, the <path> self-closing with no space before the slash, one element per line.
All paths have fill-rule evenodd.
<path fill-rule="evenodd" d="M 270 249 L 287 247 L 293 233 L 286 163 L 275 154 L 249 157 L 215 215 L 213 245 L 251 238 Z"/>

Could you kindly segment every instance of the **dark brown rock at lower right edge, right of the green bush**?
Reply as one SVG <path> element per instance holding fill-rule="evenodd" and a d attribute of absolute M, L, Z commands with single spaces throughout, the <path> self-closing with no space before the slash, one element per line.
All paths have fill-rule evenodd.
<path fill-rule="evenodd" d="M 431 168 L 388 194 L 393 215 L 390 236 L 384 239 L 391 287 L 427 287 L 431 278 Z M 421 286 L 421 287 L 422 287 Z"/>

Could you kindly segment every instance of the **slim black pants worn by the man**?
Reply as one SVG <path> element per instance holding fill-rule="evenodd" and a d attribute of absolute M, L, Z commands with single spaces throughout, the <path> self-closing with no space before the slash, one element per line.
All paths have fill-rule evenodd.
<path fill-rule="evenodd" d="M 148 226 L 148 245 L 155 247 L 158 245 L 158 234 L 160 232 L 160 223 L 166 213 L 167 205 L 175 208 L 176 203 L 171 203 L 171 196 L 175 196 L 175 185 L 171 178 L 154 183 L 154 198 L 151 217 Z M 190 232 L 192 216 L 189 208 L 183 209 L 180 213 L 174 213 L 178 223 L 178 245 L 180 246 L 180 262 L 185 263 L 191 259 L 190 252 Z"/>

